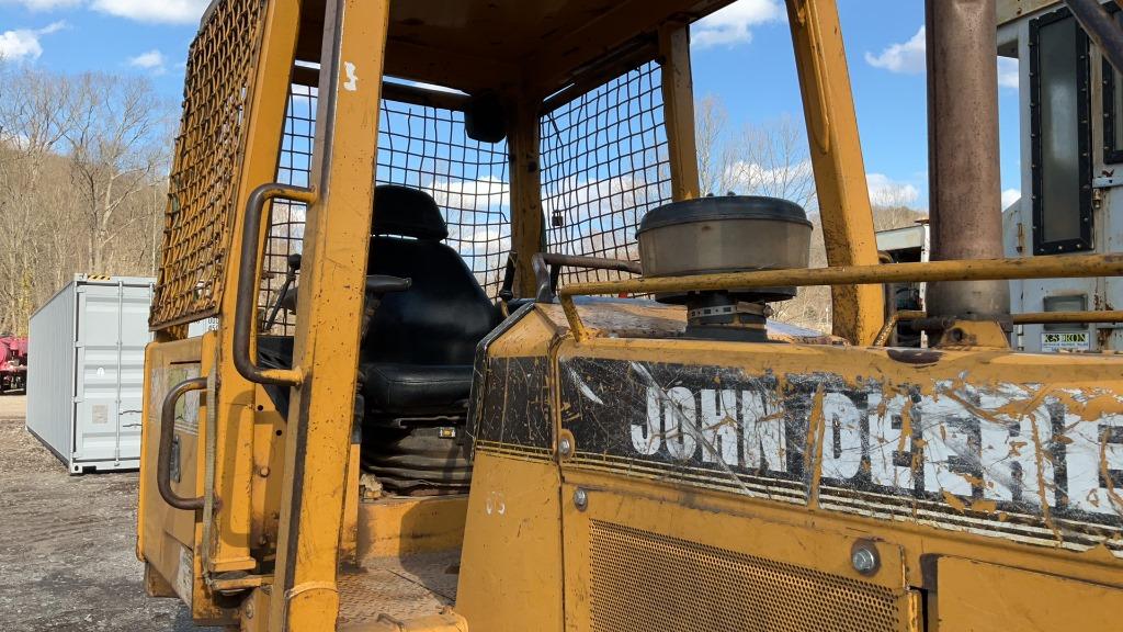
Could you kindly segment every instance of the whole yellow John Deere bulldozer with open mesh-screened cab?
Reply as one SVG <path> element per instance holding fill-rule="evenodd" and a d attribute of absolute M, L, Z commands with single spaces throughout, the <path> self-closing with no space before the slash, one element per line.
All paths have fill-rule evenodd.
<path fill-rule="evenodd" d="M 1008 344 L 1011 279 L 1123 273 L 1001 258 L 996 15 L 1054 8 L 929 2 L 932 261 L 883 264 L 836 3 L 787 1 L 807 269 L 804 209 L 699 195 L 688 29 L 730 3 L 212 3 L 149 594 L 247 632 L 1119 629 L 1123 359 Z M 832 335 L 770 317 L 810 286 Z"/>

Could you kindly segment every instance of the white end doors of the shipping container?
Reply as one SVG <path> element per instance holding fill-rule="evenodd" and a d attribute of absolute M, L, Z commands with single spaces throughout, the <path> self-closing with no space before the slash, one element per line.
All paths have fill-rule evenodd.
<path fill-rule="evenodd" d="M 75 469 L 137 467 L 140 458 L 148 287 L 88 285 L 77 290 Z"/>

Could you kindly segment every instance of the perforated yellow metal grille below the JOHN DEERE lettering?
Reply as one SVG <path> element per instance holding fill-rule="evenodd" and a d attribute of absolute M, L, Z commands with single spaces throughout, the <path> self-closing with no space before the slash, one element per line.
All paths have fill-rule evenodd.
<path fill-rule="evenodd" d="M 888 588 L 617 524 L 591 524 L 594 632 L 888 632 Z"/>

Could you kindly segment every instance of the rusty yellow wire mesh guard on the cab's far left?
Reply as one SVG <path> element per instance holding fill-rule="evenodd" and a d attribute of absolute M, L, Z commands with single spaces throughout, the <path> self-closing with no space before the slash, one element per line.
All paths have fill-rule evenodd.
<path fill-rule="evenodd" d="M 262 0 L 219 0 L 191 44 L 175 138 L 155 328 L 218 313 L 229 260 L 245 115 L 265 18 Z"/>

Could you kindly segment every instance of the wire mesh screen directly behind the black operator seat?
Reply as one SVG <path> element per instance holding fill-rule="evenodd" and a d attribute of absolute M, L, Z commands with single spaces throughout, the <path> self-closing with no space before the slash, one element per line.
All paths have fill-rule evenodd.
<path fill-rule="evenodd" d="M 448 223 L 448 244 L 487 296 L 499 295 L 511 250 L 505 141 L 473 141 L 463 112 L 384 100 L 376 180 L 432 196 Z"/>

